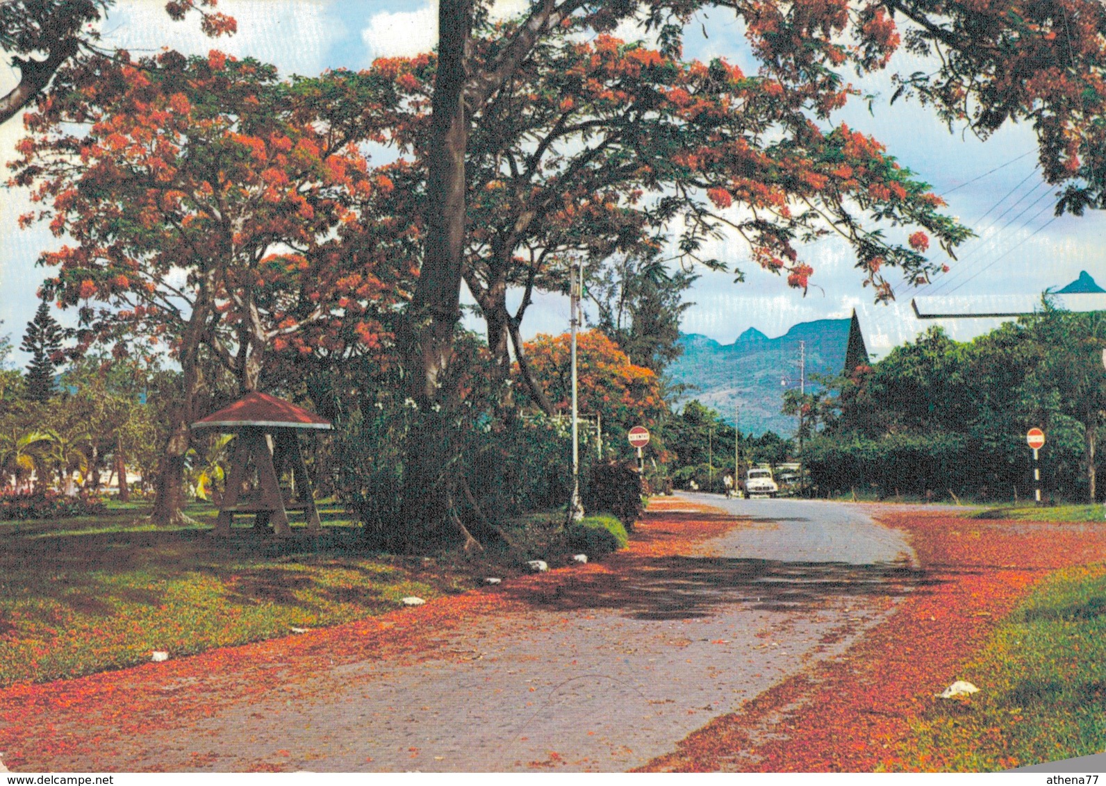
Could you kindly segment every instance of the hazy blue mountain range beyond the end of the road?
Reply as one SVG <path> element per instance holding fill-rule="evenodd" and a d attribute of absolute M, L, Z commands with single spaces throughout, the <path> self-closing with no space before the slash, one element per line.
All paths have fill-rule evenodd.
<path fill-rule="evenodd" d="M 847 318 L 818 319 L 800 323 L 786 334 L 769 338 L 750 327 L 733 344 L 726 345 L 697 333 L 681 334 L 684 354 L 668 369 L 675 381 L 688 386 L 677 407 L 697 398 L 730 423 L 740 407 L 742 432 L 791 436 L 797 422 L 780 409 L 783 391 L 799 387 L 799 342 L 806 343 L 807 389 L 816 389 L 812 375 L 836 376 L 844 368 L 848 328 Z M 784 378 L 786 387 L 780 384 Z"/>

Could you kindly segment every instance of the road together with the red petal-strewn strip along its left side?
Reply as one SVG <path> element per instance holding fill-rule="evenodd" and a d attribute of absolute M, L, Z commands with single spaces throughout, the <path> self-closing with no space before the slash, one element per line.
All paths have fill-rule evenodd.
<path fill-rule="evenodd" d="M 0 750 L 32 771 L 641 766 L 839 656 L 916 578 L 905 542 L 858 509 L 822 535 L 811 517 L 758 518 L 658 501 L 605 564 L 9 689 Z"/>

